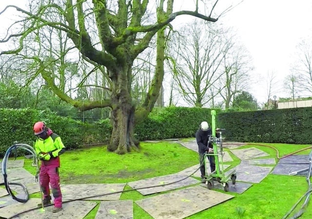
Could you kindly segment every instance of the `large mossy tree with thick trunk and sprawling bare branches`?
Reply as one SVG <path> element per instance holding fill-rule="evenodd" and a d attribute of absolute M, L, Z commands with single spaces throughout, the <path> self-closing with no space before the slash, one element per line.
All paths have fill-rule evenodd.
<path fill-rule="evenodd" d="M 156 67 L 154 78 L 142 105 L 137 109 L 136 118 L 146 116 L 154 107 L 164 76 L 165 28 L 180 15 L 195 16 L 215 22 L 212 12 L 218 0 L 213 2 L 209 14 L 200 14 L 200 1 L 196 0 L 194 11 L 173 12 L 174 0 L 158 0 L 156 18 L 146 20 L 155 1 L 149 0 L 32 0 L 29 9 L 9 5 L 20 14 L 20 21 L 10 26 L 9 36 L 1 43 L 11 43 L 1 55 L 16 55 L 32 61 L 36 73 L 60 99 L 80 110 L 110 107 L 113 114 L 113 133 L 108 149 L 123 154 L 138 149 L 134 138 L 134 118 L 136 103 L 132 99 L 132 66 L 136 57 L 149 47 L 156 35 Z M 199 5 L 199 6 L 198 6 Z M 203 10 L 205 11 L 205 10 Z M 152 19 L 152 18 L 150 18 Z M 14 28 L 16 27 L 16 28 Z M 58 78 L 47 66 L 44 56 L 38 53 L 42 38 L 39 32 L 46 28 L 61 31 L 77 50 L 78 56 L 105 67 L 109 81 L 111 98 L 101 101 L 78 101 L 65 93 Z M 31 39 L 31 40 L 30 40 Z M 28 40 L 28 41 L 27 41 Z M 30 46 L 30 47 L 29 47 Z M 26 52 L 26 49 L 28 51 Z M 29 48 L 31 52 L 29 52 Z M 77 55 L 77 54 L 76 54 Z"/>

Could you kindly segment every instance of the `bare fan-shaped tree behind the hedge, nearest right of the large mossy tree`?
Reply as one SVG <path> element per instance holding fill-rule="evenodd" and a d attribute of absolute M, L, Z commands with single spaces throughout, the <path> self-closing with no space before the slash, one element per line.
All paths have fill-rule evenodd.
<path fill-rule="evenodd" d="M 184 100 L 202 107 L 219 93 L 210 95 L 208 91 L 219 82 L 222 60 L 233 43 L 225 40 L 226 31 L 214 24 L 194 21 L 180 32 L 184 36 L 176 35 L 169 66 Z"/>

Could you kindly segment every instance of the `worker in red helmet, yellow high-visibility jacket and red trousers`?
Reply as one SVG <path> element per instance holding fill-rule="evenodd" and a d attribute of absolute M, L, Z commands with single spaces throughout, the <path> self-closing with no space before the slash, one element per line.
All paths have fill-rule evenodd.
<path fill-rule="evenodd" d="M 34 125 L 34 134 L 38 137 L 35 143 L 35 150 L 41 161 L 40 165 L 40 186 L 43 192 L 43 206 L 51 204 L 50 187 L 54 197 L 53 212 L 62 209 L 62 193 L 59 185 L 59 155 L 65 152 L 65 146 L 59 135 L 47 128 L 44 122 L 37 122 Z M 38 204 L 42 206 L 42 204 Z"/>

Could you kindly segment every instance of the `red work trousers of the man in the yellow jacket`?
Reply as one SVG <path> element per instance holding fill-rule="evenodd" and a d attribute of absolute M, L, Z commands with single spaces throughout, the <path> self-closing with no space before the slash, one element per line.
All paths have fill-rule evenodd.
<path fill-rule="evenodd" d="M 57 208 L 62 207 L 62 193 L 59 187 L 59 167 L 41 165 L 39 178 L 43 198 L 50 197 L 50 183 L 54 197 L 54 206 Z"/>

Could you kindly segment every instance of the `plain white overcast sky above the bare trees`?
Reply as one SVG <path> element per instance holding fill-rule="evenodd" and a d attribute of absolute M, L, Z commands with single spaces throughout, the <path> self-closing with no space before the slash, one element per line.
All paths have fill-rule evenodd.
<path fill-rule="evenodd" d="M 194 1 L 176 0 L 174 10 L 194 10 Z M 208 2 L 209 0 L 199 1 Z M 0 1 L 0 11 L 7 5 L 6 2 Z M 25 2 L 26 0 L 10 0 L 10 4 L 19 6 L 23 6 Z M 236 5 L 217 22 L 233 27 L 236 30 L 236 36 L 253 58 L 253 73 L 260 80 L 250 92 L 259 103 L 266 102 L 268 95 L 265 80 L 267 74 L 273 72 L 278 78 L 279 89 L 272 95 L 276 95 L 277 99 L 288 97 L 282 84 L 295 61 L 296 45 L 301 39 L 312 36 L 312 1 L 243 0 L 237 5 L 239 2 L 241 0 L 219 0 L 215 13 L 219 14 L 230 5 Z M 16 14 L 15 12 L 11 9 L 1 15 L 1 30 L 7 25 L 5 18 L 11 18 Z M 183 23 L 189 18 L 189 16 L 177 17 L 173 24 Z"/>

